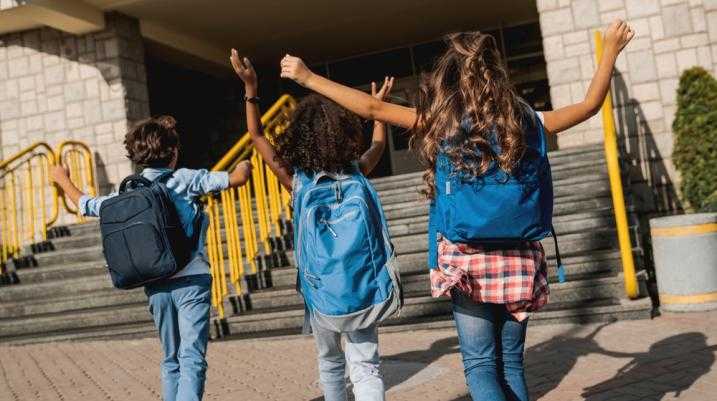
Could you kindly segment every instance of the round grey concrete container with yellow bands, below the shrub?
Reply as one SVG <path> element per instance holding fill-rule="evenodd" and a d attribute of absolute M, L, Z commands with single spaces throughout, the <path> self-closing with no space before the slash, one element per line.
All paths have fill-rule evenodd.
<path fill-rule="evenodd" d="M 650 220 L 663 310 L 717 309 L 717 213 Z"/>

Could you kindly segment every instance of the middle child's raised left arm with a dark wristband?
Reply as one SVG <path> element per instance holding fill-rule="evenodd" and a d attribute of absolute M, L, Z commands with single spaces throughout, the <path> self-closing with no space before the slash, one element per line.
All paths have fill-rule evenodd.
<path fill-rule="evenodd" d="M 251 61 L 246 57 L 243 59 L 240 58 L 234 49 L 232 49 L 230 59 L 234 71 L 236 71 L 239 78 L 244 82 L 246 125 L 251 135 L 251 140 L 261 157 L 263 157 L 264 161 L 269 165 L 271 171 L 276 174 L 279 182 L 288 190 L 291 190 L 293 173 L 276 161 L 274 146 L 272 146 L 269 140 L 264 136 L 264 130 L 261 126 L 261 114 L 259 113 L 259 104 L 257 102 L 259 84 L 256 71 L 254 71 Z"/>

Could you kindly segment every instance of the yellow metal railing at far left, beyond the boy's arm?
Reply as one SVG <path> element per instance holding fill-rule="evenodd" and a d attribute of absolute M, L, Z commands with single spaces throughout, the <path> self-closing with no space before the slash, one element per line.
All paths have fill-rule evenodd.
<path fill-rule="evenodd" d="M 81 142 L 63 142 L 56 151 L 36 142 L 0 161 L 0 276 L 5 281 L 17 281 L 14 267 L 31 265 L 33 253 L 49 250 L 48 232 L 61 213 L 60 193 L 49 179 L 50 167 L 58 163 L 75 184 L 96 192 L 92 153 Z M 76 213 L 67 202 L 64 206 Z"/>

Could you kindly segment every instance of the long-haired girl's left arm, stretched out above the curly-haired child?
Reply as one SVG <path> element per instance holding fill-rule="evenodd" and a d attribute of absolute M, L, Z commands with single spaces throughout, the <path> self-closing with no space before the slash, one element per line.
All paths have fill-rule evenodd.
<path fill-rule="evenodd" d="M 416 109 L 383 102 L 360 90 L 316 75 L 298 57 L 287 54 L 281 60 L 281 77 L 292 79 L 367 120 L 378 120 L 404 128 L 411 128 L 416 122 Z"/>

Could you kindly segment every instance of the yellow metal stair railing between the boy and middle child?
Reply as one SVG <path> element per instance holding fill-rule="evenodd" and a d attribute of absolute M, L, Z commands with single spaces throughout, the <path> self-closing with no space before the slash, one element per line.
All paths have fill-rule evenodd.
<path fill-rule="evenodd" d="M 296 101 L 283 95 L 262 116 L 264 133 L 269 139 L 284 131 L 295 107 Z M 206 202 L 209 216 L 207 253 L 213 277 L 212 305 L 220 319 L 225 316 L 224 301 L 230 296 L 244 294 L 242 281 L 247 276 L 258 280 L 257 273 L 266 268 L 276 242 L 286 234 L 283 222 L 291 217 L 290 195 L 254 149 L 248 133 L 212 167 L 212 171 L 232 170 L 242 160 L 252 163 L 250 182 L 209 196 Z M 231 287 L 227 283 L 227 270 Z"/>

